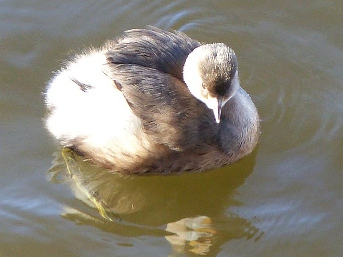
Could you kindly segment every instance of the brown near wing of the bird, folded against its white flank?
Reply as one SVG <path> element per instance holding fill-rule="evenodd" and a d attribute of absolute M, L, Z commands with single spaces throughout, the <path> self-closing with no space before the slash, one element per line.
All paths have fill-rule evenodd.
<path fill-rule="evenodd" d="M 191 95 L 183 82 L 153 68 L 108 65 L 108 76 L 115 81 L 154 143 L 183 151 L 213 140 L 210 111 Z"/>

